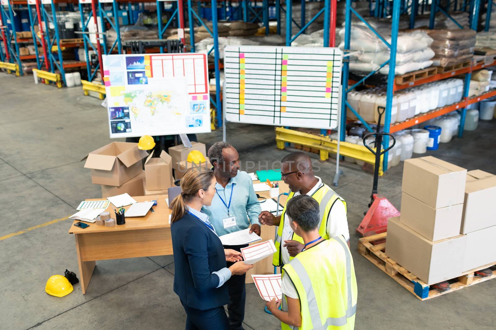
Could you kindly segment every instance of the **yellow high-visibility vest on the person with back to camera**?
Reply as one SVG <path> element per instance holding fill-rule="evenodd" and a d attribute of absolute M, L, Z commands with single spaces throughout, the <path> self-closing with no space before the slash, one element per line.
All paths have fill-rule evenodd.
<path fill-rule="evenodd" d="M 281 323 L 282 330 L 353 330 L 357 279 L 350 249 L 342 236 L 321 241 L 284 265 L 300 299 L 302 326 Z M 287 312 L 286 296 L 282 310 Z"/>

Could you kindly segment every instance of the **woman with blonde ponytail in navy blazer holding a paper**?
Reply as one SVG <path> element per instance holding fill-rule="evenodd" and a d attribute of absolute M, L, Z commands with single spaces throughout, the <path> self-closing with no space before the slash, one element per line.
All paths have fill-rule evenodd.
<path fill-rule="evenodd" d="M 211 170 L 191 168 L 181 179 L 183 192 L 172 201 L 174 292 L 186 311 L 186 330 L 230 330 L 224 305 L 229 292 L 223 285 L 231 275 L 245 274 L 241 253 L 224 249 L 208 216 L 201 211 L 215 194 Z M 234 262 L 227 268 L 226 261 Z"/>

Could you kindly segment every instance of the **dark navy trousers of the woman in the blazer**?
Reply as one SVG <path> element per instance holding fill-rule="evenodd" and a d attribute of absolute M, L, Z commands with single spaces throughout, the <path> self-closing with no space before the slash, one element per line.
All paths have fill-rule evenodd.
<path fill-rule="evenodd" d="M 230 329 L 224 306 L 202 311 L 188 307 L 182 300 L 181 303 L 186 311 L 186 330 Z"/>

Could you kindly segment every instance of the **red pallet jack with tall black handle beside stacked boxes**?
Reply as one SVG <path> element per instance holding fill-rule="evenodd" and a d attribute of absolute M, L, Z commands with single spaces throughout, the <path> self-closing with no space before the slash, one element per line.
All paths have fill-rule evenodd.
<path fill-rule="evenodd" d="M 382 114 L 384 113 L 384 110 L 385 108 L 382 106 L 379 106 L 377 109 L 379 113 L 379 119 L 378 119 L 379 123 Z M 393 144 L 389 146 L 387 149 L 382 150 L 381 152 L 374 151 L 366 143 L 366 140 L 369 137 L 375 137 L 375 141 L 374 141 L 375 150 L 380 150 L 382 143 L 382 136 L 384 135 L 387 135 L 391 139 L 393 139 Z M 386 151 L 390 150 L 394 146 L 394 144 L 396 144 L 396 139 L 394 138 L 394 136 L 389 133 L 379 132 L 379 125 L 377 125 L 377 131 L 375 133 L 369 133 L 364 136 L 364 145 L 375 155 L 375 165 L 373 172 L 373 185 L 372 185 L 371 202 L 369 203 L 369 211 L 367 213 L 364 213 L 365 217 L 360 223 L 360 226 L 358 226 L 357 228 L 357 234 L 362 237 L 384 233 L 387 229 L 387 219 L 392 217 L 397 217 L 400 215 L 400 212 L 396 209 L 396 207 L 394 207 L 393 204 L 391 204 L 389 200 L 387 200 L 386 197 L 377 194 L 380 156 L 384 154 Z"/>

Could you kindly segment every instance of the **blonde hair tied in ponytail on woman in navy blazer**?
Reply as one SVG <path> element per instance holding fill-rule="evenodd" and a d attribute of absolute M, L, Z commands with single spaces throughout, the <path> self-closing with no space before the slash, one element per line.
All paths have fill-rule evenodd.
<path fill-rule="evenodd" d="M 198 190 L 208 190 L 214 173 L 206 168 L 189 168 L 186 170 L 185 175 L 181 178 L 181 189 L 183 192 L 179 194 L 171 203 L 172 217 L 171 224 L 183 218 L 187 213 L 186 202 L 191 200 Z"/>

